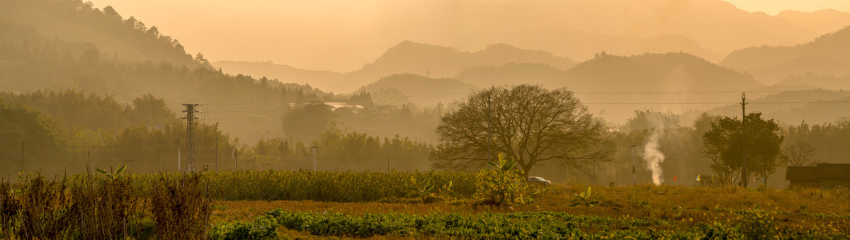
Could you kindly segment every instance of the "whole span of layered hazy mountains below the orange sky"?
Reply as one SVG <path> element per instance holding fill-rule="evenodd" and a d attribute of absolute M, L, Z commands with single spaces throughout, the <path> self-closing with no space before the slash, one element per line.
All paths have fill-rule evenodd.
<path fill-rule="evenodd" d="M 124 19 L 111 8 L 94 9 L 91 4 L 75 1 L 0 3 L 0 69 L 4 70 L 0 81 L 4 88 L 80 88 L 133 96 L 153 93 L 171 105 L 190 101 L 338 100 L 358 90 L 377 93 L 392 89 L 385 92 L 404 94 L 411 103 L 430 106 L 460 100 L 465 96 L 462 93 L 471 89 L 536 83 L 572 89 L 593 112 L 613 122 L 649 108 L 686 111 L 727 106 L 740 100 L 742 91 L 756 90 L 754 100 L 794 100 L 805 95 L 800 99 L 834 101 L 843 99 L 843 92 L 820 94 L 812 90 L 850 89 L 850 28 L 821 37 L 815 33 L 847 20 L 847 13 L 837 11 L 786 11 L 769 16 L 717 0 L 505 4 L 437 0 L 434 3 L 439 4 L 433 9 L 395 14 L 398 19 L 381 21 L 381 26 L 363 33 L 372 36 L 398 31 L 399 36 L 415 35 L 411 29 L 431 23 L 439 33 L 435 34 L 441 36 L 434 38 L 437 40 L 398 41 L 360 69 L 336 72 L 269 61 L 221 61 L 210 66 L 202 55 L 185 53 L 178 41 L 155 27 Z M 649 12 L 637 10 L 632 15 L 614 10 L 582 12 L 605 5 L 614 9 L 667 9 L 666 13 L 675 14 L 653 18 Z M 427 14 L 450 9 L 479 15 L 459 15 L 446 22 L 445 16 Z M 718 14 L 727 17 L 718 19 Z M 582 25 L 578 20 L 587 22 Z M 404 25 L 410 22 L 411 26 Z M 535 26 L 538 23 L 545 24 Z M 445 39 L 447 32 L 456 32 L 455 37 L 473 39 L 469 41 L 474 43 L 464 43 L 463 48 L 447 47 L 453 45 L 442 44 L 451 42 Z M 803 43 L 808 39 L 813 40 Z M 749 48 L 754 44 L 772 46 Z M 473 49 L 471 46 L 481 47 L 463 50 Z M 723 53 L 716 49 L 731 51 L 735 46 L 747 48 L 728 54 L 720 64 L 714 63 L 720 59 L 717 53 Z M 327 48 L 332 52 L 335 47 Z M 216 71 L 218 68 L 224 72 Z M 780 93 L 783 91 L 796 92 Z M 753 109 L 789 117 L 793 114 L 780 112 L 798 108 L 802 112 L 805 107 Z M 820 108 L 810 109 L 810 116 L 828 115 L 812 112 Z M 712 112 L 727 111 L 718 108 Z"/>

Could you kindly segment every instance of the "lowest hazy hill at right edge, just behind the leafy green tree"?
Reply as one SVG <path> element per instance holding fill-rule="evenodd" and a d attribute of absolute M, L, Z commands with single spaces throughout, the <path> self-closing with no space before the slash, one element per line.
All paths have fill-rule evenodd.
<path fill-rule="evenodd" d="M 850 111 L 850 91 L 846 90 L 808 90 L 789 91 L 750 99 L 747 112 L 762 112 L 764 117 L 778 119 L 787 124 L 832 123 L 841 117 L 847 117 Z M 739 116 L 740 105 L 716 107 L 709 111 L 712 115 Z"/>

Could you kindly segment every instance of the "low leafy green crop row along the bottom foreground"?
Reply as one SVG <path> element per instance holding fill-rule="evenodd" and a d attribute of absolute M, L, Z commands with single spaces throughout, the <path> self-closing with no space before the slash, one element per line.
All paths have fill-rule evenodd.
<path fill-rule="evenodd" d="M 325 237 L 437 237 L 471 239 L 847 239 L 836 228 L 774 227 L 770 214 L 745 211 L 739 222 L 696 223 L 675 229 L 668 220 L 624 219 L 554 212 L 509 214 L 362 214 L 267 212 L 253 222 L 222 222 L 208 237 L 274 238 L 277 227 Z"/>

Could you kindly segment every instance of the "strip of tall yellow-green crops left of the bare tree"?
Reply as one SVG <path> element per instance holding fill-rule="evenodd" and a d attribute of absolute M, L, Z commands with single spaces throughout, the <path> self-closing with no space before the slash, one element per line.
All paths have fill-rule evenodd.
<path fill-rule="evenodd" d="M 162 176 L 172 178 L 178 174 L 134 174 L 133 179 L 144 188 Z M 470 172 L 224 171 L 202 176 L 212 198 L 228 201 L 354 203 L 412 197 L 415 191 L 411 189 L 446 189 L 456 197 L 472 197 L 475 192 L 475 173 Z"/>

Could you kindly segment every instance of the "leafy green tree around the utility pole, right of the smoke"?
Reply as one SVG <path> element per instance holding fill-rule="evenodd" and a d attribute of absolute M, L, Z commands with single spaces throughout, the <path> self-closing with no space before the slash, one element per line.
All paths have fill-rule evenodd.
<path fill-rule="evenodd" d="M 782 164 L 780 146 L 784 137 L 779 135 L 779 124 L 773 119 L 762 119 L 760 112 L 748 114 L 745 127 L 743 139 L 739 119 L 723 117 L 717 123 L 711 123 L 711 131 L 703 134 L 703 152 L 711 158 L 711 169 L 715 174 L 723 180 L 735 182 L 744 163 L 742 148 L 746 147 L 747 172 L 761 176 L 767 186 L 768 176 Z"/>

